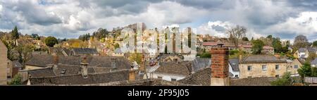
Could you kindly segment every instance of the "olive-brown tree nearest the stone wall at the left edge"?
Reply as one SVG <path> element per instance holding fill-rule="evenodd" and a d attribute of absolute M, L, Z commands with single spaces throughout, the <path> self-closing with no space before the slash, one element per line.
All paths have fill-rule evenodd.
<path fill-rule="evenodd" d="M 32 58 L 32 51 L 34 49 L 34 46 L 31 44 L 20 44 L 16 48 L 16 51 L 18 51 L 19 54 L 19 62 L 22 63 L 23 68 L 25 68 L 25 63 L 27 61 L 30 61 Z"/>

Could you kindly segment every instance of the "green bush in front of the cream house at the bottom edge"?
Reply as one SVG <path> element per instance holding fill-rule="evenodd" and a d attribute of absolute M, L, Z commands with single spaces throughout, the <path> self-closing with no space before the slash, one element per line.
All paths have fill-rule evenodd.
<path fill-rule="evenodd" d="M 273 86 L 292 86 L 292 77 L 290 77 L 290 73 L 284 73 L 281 78 L 271 82 Z"/>

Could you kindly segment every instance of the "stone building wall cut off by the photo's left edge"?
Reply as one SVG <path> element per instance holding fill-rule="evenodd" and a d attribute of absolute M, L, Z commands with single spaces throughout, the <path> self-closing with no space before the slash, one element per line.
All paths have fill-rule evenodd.
<path fill-rule="evenodd" d="M 0 42 L 0 85 L 6 85 L 7 78 L 7 49 L 6 45 Z"/>

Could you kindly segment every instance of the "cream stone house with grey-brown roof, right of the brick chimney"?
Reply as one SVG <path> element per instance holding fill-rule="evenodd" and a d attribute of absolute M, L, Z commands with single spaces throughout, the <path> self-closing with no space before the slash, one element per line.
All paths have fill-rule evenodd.
<path fill-rule="evenodd" d="M 268 55 L 240 57 L 240 78 L 280 77 L 287 72 L 286 59 Z"/>

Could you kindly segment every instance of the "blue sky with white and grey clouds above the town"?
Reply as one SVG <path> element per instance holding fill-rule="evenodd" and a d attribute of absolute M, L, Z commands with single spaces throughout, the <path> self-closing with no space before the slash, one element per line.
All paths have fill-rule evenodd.
<path fill-rule="evenodd" d="M 192 27 L 225 37 L 242 25 L 248 37 L 273 35 L 317 40 L 316 0 L 0 0 L 0 31 L 17 25 L 23 34 L 73 38 L 99 27 L 132 23 Z"/>

